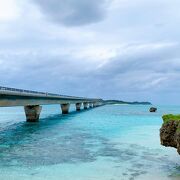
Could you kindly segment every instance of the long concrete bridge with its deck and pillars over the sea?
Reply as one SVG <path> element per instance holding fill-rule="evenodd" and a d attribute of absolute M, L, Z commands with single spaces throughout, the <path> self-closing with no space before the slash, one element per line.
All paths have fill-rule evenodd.
<path fill-rule="evenodd" d="M 94 108 L 104 104 L 102 99 L 65 96 L 46 92 L 28 91 L 15 88 L 0 87 L 0 107 L 24 106 L 26 120 L 37 122 L 42 106 L 47 104 L 60 104 L 62 114 L 68 114 L 71 104 L 76 110 Z"/>

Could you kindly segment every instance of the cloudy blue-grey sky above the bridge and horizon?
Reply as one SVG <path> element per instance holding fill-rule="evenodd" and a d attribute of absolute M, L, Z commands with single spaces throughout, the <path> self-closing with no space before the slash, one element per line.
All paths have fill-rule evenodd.
<path fill-rule="evenodd" d="M 0 86 L 180 103 L 179 0 L 0 0 Z"/>

